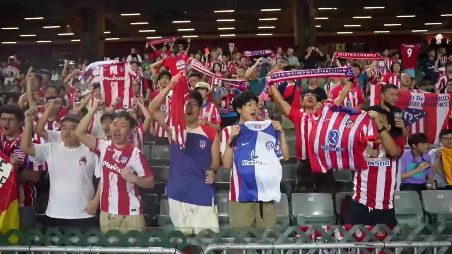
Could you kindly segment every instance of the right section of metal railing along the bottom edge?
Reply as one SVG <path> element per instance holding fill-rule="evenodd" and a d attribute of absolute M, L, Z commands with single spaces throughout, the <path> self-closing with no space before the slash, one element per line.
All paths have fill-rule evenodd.
<path fill-rule="evenodd" d="M 452 248 L 452 241 L 400 241 L 400 242 L 367 242 L 367 243 L 292 243 L 292 244 L 213 244 L 208 245 L 204 249 L 205 254 L 210 254 L 212 251 L 222 251 L 222 254 L 226 254 L 228 250 L 242 250 L 243 254 L 247 253 L 247 250 L 261 251 L 262 254 L 266 250 L 272 250 L 272 253 L 284 254 L 284 250 L 298 250 L 301 254 L 303 250 L 318 250 L 321 254 L 323 250 L 328 250 L 328 253 L 341 253 L 341 249 L 375 249 L 375 253 L 379 253 L 381 249 L 394 249 L 394 253 L 400 253 L 403 249 L 412 248 L 414 254 L 417 254 L 418 248 L 432 248 L 433 254 L 437 254 L 438 248 L 443 249 L 445 252 L 447 249 Z M 332 252 L 331 249 L 337 249 L 337 252 Z M 345 252 L 347 253 L 347 251 Z"/>

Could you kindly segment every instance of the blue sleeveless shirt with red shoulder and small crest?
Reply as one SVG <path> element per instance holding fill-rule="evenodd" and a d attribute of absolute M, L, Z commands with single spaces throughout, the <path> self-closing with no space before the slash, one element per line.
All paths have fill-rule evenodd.
<path fill-rule="evenodd" d="M 206 184 L 206 171 L 212 163 L 212 144 L 217 130 L 202 125 L 187 129 L 185 149 L 172 142 L 166 196 L 179 202 L 212 206 L 215 184 Z"/>

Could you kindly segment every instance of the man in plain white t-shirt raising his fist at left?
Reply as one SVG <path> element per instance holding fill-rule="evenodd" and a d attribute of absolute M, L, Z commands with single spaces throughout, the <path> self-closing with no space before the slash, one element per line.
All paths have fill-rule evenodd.
<path fill-rule="evenodd" d="M 50 101 L 45 115 L 50 114 L 55 101 Z M 94 214 L 99 197 L 94 197 L 93 174 L 99 159 L 86 146 L 80 144 L 74 135 L 79 118 L 72 115 L 63 118 L 61 132 L 44 131 L 42 128 L 42 137 L 50 142 L 32 144 L 33 119 L 37 109 L 32 107 L 25 112 L 25 129 L 20 149 L 33 156 L 36 161 L 47 162 L 50 192 L 46 226 L 83 230 L 97 226 Z M 41 127 L 43 126 L 44 124 L 41 124 Z M 99 173 L 96 173 L 96 176 L 99 177 Z"/>

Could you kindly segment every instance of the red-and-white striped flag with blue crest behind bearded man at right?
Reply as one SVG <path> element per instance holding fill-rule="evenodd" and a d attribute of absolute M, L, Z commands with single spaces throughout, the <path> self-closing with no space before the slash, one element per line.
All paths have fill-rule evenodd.
<path fill-rule="evenodd" d="M 370 86 L 370 105 L 377 105 L 380 99 L 380 87 Z M 403 119 L 410 134 L 423 132 L 430 144 L 439 141 L 438 135 L 447 128 L 451 113 L 450 94 L 430 94 L 399 91 L 397 107 L 403 110 Z"/>

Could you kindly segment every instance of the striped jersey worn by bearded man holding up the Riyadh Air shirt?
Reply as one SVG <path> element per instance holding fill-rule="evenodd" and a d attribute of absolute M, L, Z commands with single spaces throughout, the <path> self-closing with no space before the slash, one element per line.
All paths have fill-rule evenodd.
<path fill-rule="evenodd" d="M 403 151 L 405 139 L 394 139 Z M 372 209 L 391 209 L 394 207 L 396 175 L 399 159 L 386 154 L 381 143 L 367 142 L 364 159 L 368 169 L 355 169 L 353 174 L 353 199 Z"/>

